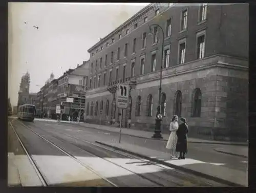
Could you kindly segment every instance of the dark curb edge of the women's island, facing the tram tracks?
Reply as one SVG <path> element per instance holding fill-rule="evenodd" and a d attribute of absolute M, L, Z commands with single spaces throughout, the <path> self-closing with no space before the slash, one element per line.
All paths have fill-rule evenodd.
<path fill-rule="evenodd" d="M 230 181 L 227 181 L 227 180 L 223 180 L 221 178 L 210 176 L 210 175 L 201 173 L 199 171 L 195 171 L 195 170 L 188 169 L 188 168 L 185 168 L 185 167 L 177 166 L 177 165 L 174 165 L 174 164 L 171 164 L 171 163 L 166 163 L 164 161 L 161 161 L 161 160 L 158 160 L 158 159 L 155 159 L 155 158 L 151 158 L 151 157 L 148 157 L 148 156 L 145 156 L 145 155 L 142 155 L 142 154 L 138 154 L 138 153 L 135 153 L 135 152 L 132 152 L 132 151 L 120 148 L 120 147 L 116 147 L 114 145 L 109 145 L 109 144 L 106 144 L 106 143 L 103 143 L 103 142 L 100 142 L 100 141 L 95 141 L 95 143 L 98 143 L 98 144 L 101 144 L 101 145 L 104 145 L 104 146 L 108 146 L 108 147 L 114 148 L 118 151 L 129 153 L 129 154 L 135 155 L 137 157 L 147 159 L 147 160 L 150 160 L 150 161 L 154 161 L 154 162 L 157 162 L 159 164 L 166 165 L 168 167 L 172 167 L 174 169 L 178 169 L 178 170 L 181 170 L 181 171 L 184 171 L 184 172 L 187 172 L 187 173 L 190 173 L 190 174 L 194 174 L 194 175 L 200 176 L 202 178 L 213 180 L 213 181 L 216 181 L 216 182 L 219 182 L 219 183 L 222 183 L 222 184 L 226 184 L 226 185 L 229 185 L 229 186 L 242 186 L 243 187 L 243 185 L 241 185 L 241 184 L 233 183 L 233 182 L 230 182 Z"/>

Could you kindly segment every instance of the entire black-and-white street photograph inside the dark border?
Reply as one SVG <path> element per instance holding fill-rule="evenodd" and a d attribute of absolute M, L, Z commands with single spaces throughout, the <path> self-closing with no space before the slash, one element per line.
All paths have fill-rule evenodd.
<path fill-rule="evenodd" d="M 248 186 L 247 4 L 9 6 L 8 186 Z"/>

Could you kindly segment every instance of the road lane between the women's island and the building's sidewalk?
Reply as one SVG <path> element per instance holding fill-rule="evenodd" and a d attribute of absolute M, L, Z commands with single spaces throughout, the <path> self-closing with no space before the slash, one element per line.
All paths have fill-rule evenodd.
<path fill-rule="evenodd" d="M 39 123 L 39 121 L 37 121 Z M 74 132 L 84 131 L 87 132 L 92 138 L 91 140 L 98 140 L 105 142 L 118 141 L 119 134 L 115 132 L 97 130 L 95 128 L 88 128 L 80 125 L 72 125 L 68 123 L 61 123 L 65 125 L 67 130 L 72 130 Z M 57 124 L 58 125 L 58 124 Z M 60 124 L 57 127 L 61 127 Z M 119 128 L 116 128 L 119 130 Z M 142 139 L 139 137 L 133 137 L 128 135 L 122 135 L 122 141 L 131 144 L 147 147 L 161 152 L 168 152 L 165 148 L 166 141 L 154 140 L 154 139 Z M 233 148 L 232 145 L 225 145 L 225 148 Z M 216 165 L 223 165 L 227 168 L 237 169 L 246 171 L 248 167 L 248 159 L 227 155 L 223 153 L 216 152 L 214 148 L 223 147 L 219 144 L 201 144 L 201 143 L 188 143 L 188 154 L 187 158 L 196 159 L 208 163 L 215 163 Z"/>

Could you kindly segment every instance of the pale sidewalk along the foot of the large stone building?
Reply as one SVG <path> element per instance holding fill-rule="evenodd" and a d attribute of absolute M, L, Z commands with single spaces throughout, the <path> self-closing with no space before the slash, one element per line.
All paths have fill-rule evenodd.
<path fill-rule="evenodd" d="M 72 124 L 78 124 L 77 122 L 71 122 L 71 121 L 60 121 L 63 123 L 72 123 Z M 112 126 L 106 126 L 106 125 L 97 125 L 97 124 L 91 124 L 91 123 L 84 123 L 80 122 L 79 125 L 84 127 L 90 127 L 90 128 L 96 128 L 98 130 L 104 130 L 109 132 L 116 132 L 119 133 L 120 128 L 112 127 Z M 147 132 L 147 131 L 139 131 L 139 130 L 133 130 L 131 128 L 122 128 L 122 134 L 145 138 L 145 139 L 152 139 L 153 132 Z M 155 140 L 165 140 L 167 141 L 169 138 L 168 134 L 162 134 L 163 139 L 155 139 Z M 188 137 L 189 143 L 209 143 L 209 144 L 221 144 L 221 145 L 241 145 L 241 146 L 248 146 L 247 142 L 226 142 L 226 141 L 213 141 L 213 140 L 204 140 L 204 139 L 197 139 L 197 138 L 190 138 Z"/>

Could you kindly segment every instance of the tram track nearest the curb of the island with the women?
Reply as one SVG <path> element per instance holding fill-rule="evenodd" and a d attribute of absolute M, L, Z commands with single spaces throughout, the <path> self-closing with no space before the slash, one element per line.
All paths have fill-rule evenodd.
<path fill-rule="evenodd" d="M 24 123 L 22 123 L 22 122 L 20 122 L 20 123 L 21 123 L 21 124 L 24 124 Z M 24 124 L 24 125 L 25 125 L 25 124 Z M 27 125 L 25 125 L 25 126 L 28 128 Z M 39 128 L 40 130 L 43 130 L 44 132 L 46 132 L 46 133 L 48 133 L 48 134 L 50 134 L 50 135 L 53 135 L 53 131 L 51 131 L 51 132 L 46 131 L 45 128 L 39 127 L 39 126 L 37 126 L 37 125 L 36 125 L 36 127 Z M 28 128 L 28 129 L 29 129 L 30 131 L 32 131 L 30 128 Z M 34 132 L 34 131 L 32 131 L 32 132 Z M 56 131 L 55 131 L 55 132 L 56 132 Z M 126 153 L 123 153 L 123 152 L 120 152 L 120 151 L 117 151 L 117 150 L 112 149 L 112 148 L 110 148 L 110 147 L 107 148 L 107 147 L 105 147 L 105 146 L 102 146 L 102 145 L 99 145 L 99 144 L 95 144 L 95 143 L 92 143 L 92 142 L 87 141 L 87 140 L 84 140 L 84 139 L 79 139 L 79 138 L 77 138 L 77 137 L 75 137 L 75 136 L 71 136 L 71 135 L 69 135 L 69 134 L 67 134 L 67 133 L 63 133 L 63 132 L 60 132 L 60 131 L 57 131 L 57 133 L 58 133 L 58 134 L 61 134 L 61 135 L 63 135 L 63 136 L 67 136 L 67 137 L 69 137 L 69 138 L 73 138 L 73 139 L 75 139 L 75 140 L 82 141 L 82 142 L 84 142 L 84 143 L 88 143 L 88 144 L 93 145 L 93 146 L 97 146 L 98 148 L 104 149 L 104 151 L 109 151 L 109 152 L 112 152 L 112 153 L 115 153 L 115 154 L 119 154 L 119 155 L 121 155 L 121 156 L 123 156 L 123 157 L 127 157 L 127 158 L 130 158 L 130 159 L 136 159 L 136 160 L 143 161 L 144 163 L 147 163 L 147 164 L 155 165 L 155 166 L 157 166 L 157 167 L 160 167 L 161 170 L 162 170 L 162 172 L 165 173 L 166 175 L 172 176 L 172 177 L 177 178 L 177 179 L 178 179 L 178 178 L 179 178 L 179 179 L 182 179 L 183 181 L 184 181 L 184 180 L 185 180 L 185 181 L 189 181 L 190 183 L 196 184 L 197 186 L 220 186 L 220 185 L 221 185 L 221 186 L 226 186 L 225 184 L 220 184 L 220 183 L 215 182 L 215 181 L 209 181 L 209 180 L 207 180 L 207 179 L 205 180 L 205 179 L 202 179 L 201 177 L 195 177 L 194 175 L 190 175 L 190 174 L 187 174 L 187 173 L 182 173 L 181 171 L 170 170 L 170 168 L 166 168 L 166 166 L 159 165 L 159 164 L 157 164 L 157 163 L 155 163 L 155 162 L 152 162 L 152 161 L 150 161 L 150 160 L 141 159 L 141 158 L 139 158 L 139 157 L 136 157 L 136 156 L 133 156 L 133 155 L 129 155 L 129 154 L 126 154 Z M 62 141 L 62 142 L 71 143 L 70 141 L 67 141 L 67 140 L 65 140 L 65 139 L 63 139 L 63 138 L 61 138 L 61 137 L 58 137 L 57 134 L 55 134 L 54 137 L 57 138 L 58 140 Z M 159 183 L 159 182 L 157 182 L 157 181 L 155 181 L 155 180 L 152 180 L 152 178 L 153 178 L 153 179 L 160 179 L 160 181 L 166 181 L 166 179 L 163 179 L 163 178 L 161 179 L 161 177 L 159 177 L 158 175 L 152 174 L 152 175 L 151 175 L 151 178 L 145 177 L 145 175 L 143 175 L 143 174 L 135 173 L 134 171 L 132 171 L 132 170 L 130 170 L 130 169 L 127 169 L 127 168 L 123 167 L 123 166 L 120 165 L 120 164 L 117 164 L 117 163 L 115 163 L 115 162 L 113 162 L 113 161 L 110 161 L 110 160 L 108 160 L 108 159 L 105 159 L 105 158 L 102 157 L 102 156 L 99 156 L 99 155 L 95 154 L 93 151 L 88 150 L 88 148 L 85 149 L 85 148 L 83 148 L 81 145 L 77 145 L 77 144 L 75 144 L 75 143 L 71 143 L 71 144 L 74 145 L 74 146 L 76 146 L 77 148 L 82 149 L 83 151 L 87 152 L 88 154 L 91 154 L 92 156 L 100 157 L 101 159 L 103 159 L 103 160 L 105 160 L 105 161 L 108 161 L 108 162 L 110 162 L 111 164 L 115 164 L 115 165 L 117 165 L 118 167 L 121 167 L 121 168 L 123 168 L 123 169 L 129 170 L 131 173 L 133 173 L 133 174 L 135 174 L 135 175 L 138 175 L 138 176 L 140 176 L 141 178 L 144 178 L 144 179 L 146 179 L 146 180 L 148 180 L 148 181 L 151 181 L 151 182 L 155 183 L 155 184 L 158 185 L 158 186 L 164 186 L 162 183 Z M 68 154 L 69 154 L 69 153 L 68 153 Z M 72 156 L 72 155 L 71 155 L 71 156 Z M 178 181 L 178 180 L 177 180 L 177 181 Z M 183 186 L 183 185 L 184 185 L 183 183 L 174 182 L 174 181 L 172 181 L 172 184 L 175 185 L 175 186 Z"/>

